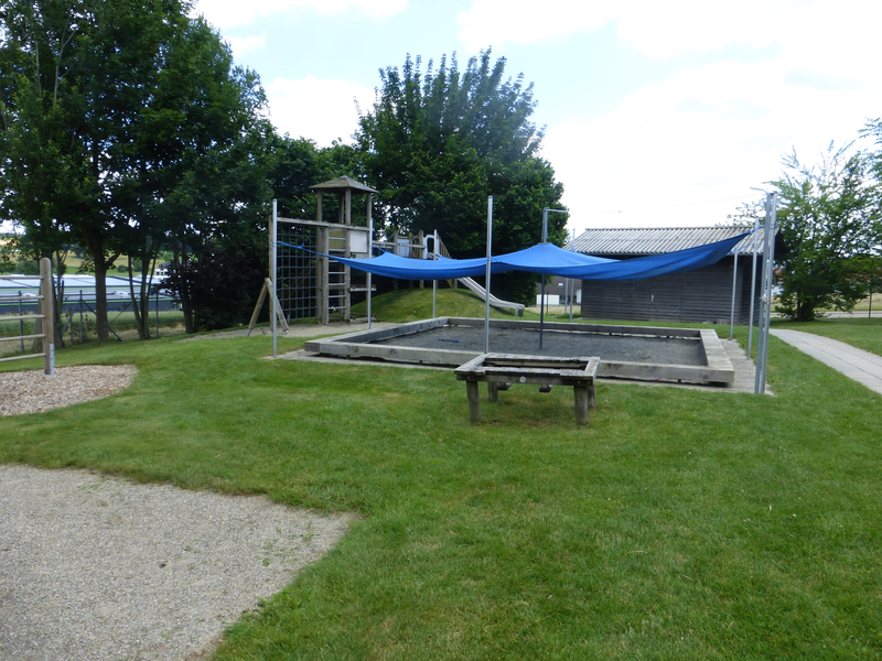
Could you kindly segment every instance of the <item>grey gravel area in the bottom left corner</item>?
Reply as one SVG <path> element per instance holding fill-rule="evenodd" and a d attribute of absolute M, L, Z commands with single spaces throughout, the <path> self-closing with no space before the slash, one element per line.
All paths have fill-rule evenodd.
<path fill-rule="evenodd" d="M 351 521 L 0 465 L 0 659 L 198 658 Z"/>

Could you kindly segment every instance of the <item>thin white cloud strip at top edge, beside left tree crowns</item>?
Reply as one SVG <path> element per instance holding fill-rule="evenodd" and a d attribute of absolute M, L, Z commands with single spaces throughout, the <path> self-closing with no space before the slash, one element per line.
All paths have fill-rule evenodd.
<path fill-rule="evenodd" d="M 314 9 L 323 14 L 361 10 L 372 18 L 381 19 L 402 12 L 407 6 L 408 0 L 197 0 L 194 14 L 203 14 L 212 25 L 226 30 L 248 25 L 259 17 L 298 9 Z"/>

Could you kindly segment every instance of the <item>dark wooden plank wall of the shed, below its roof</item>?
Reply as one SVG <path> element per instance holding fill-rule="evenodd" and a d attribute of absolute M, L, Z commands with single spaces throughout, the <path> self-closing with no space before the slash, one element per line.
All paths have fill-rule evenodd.
<path fill-rule="evenodd" d="M 647 322 L 729 323 L 733 258 L 696 271 L 644 280 L 582 281 L 582 317 Z M 735 324 L 750 318 L 752 259 L 741 257 L 735 285 Z M 757 271 L 761 264 L 757 263 Z M 759 314 L 760 273 L 756 283 Z"/>

